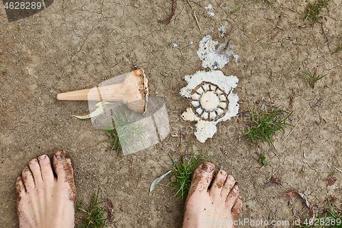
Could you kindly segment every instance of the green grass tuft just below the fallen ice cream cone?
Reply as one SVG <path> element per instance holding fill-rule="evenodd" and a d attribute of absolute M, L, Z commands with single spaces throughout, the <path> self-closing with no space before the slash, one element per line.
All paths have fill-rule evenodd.
<path fill-rule="evenodd" d="M 135 118 L 131 116 L 132 112 L 127 107 L 124 107 L 122 112 L 114 113 L 112 118 L 113 126 L 103 130 L 111 138 L 110 141 L 106 142 L 111 145 L 111 150 L 116 149 L 118 155 L 122 153 L 123 148 L 128 151 L 131 150 L 136 139 L 139 139 L 144 144 L 142 138 L 145 137 L 144 133 L 149 130 L 146 125 L 135 123 Z"/>

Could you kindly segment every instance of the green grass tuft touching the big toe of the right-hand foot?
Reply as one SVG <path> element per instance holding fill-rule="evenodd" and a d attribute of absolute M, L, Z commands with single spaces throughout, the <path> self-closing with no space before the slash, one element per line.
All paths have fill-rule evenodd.
<path fill-rule="evenodd" d="M 198 157 L 195 157 L 193 147 L 192 154 L 188 159 L 185 159 L 185 157 L 183 156 L 178 162 L 176 162 L 171 157 L 173 162 L 172 174 L 176 179 L 170 181 L 170 183 L 168 184 L 174 185 L 172 190 L 176 192 L 174 194 L 174 197 L 176 197 L 176 199 L 181 198 L 183 201 L 186 199 L 187 192 L 189 192 L 189 188 L 192 182 L 192 173 L 202 161 L 207 159 L 207 157 L 209 156 L 203 156 L 202 153 L 200 153 Z"/>

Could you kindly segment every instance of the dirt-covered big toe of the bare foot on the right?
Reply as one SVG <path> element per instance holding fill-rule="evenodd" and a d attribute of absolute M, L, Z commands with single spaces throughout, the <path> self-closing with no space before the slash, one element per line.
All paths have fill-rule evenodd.
<path fill-rule="evenodd" d="M 192 174 L 192 183 L 189 195 L 194 192 L 207 193 L 211 180 L 213 179 L 215 166 L 210 162 L 202 162 Z"/>

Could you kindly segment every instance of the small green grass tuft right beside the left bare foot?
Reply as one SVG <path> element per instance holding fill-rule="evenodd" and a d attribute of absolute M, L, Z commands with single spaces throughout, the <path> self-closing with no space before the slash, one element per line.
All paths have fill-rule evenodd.
<path fill-rule="evenodd" d="M 107 214 L 107 210 L 101 204 L 104 202 L 98 202 L 98 192 L 100 189 L 98 188 L 97 192 L 94 192 L 94 196 L 90 201 L 90 205 L 88 209 L 83 208 L 83 205 L 76 205 L 77 210 L 83 212 L 84 216 L 82 217 L 83 225 L 77 228 L 103 228 L 106 227 L 108 218 L 105 218 L 105 214 Z"/>

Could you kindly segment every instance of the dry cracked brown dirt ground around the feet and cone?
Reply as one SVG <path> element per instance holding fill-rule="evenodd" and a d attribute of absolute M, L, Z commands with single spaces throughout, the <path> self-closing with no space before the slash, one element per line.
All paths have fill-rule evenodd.
<path fill-rule="evenodd" d="M 31 158 L 58 148 L 70 151 L 75 160 L 78 202 L 88 203 L 97 188 L 101 199 L 113 201 L 109 227 L 181 227 L 183 203 L 163 186 L 169 179 L 152 194 L 148 190 L 153 179 L 170 169 L 168 154 L 190 153 L 191 142 L 195 153 L 217 155 L 211 159 L 214 164 L 239 182 L 241 220 L 287 220 L 289 225 L 275 227 L 293 227 L 293 220 L 311 217 L 300 198 L 278 197 L 291 190 L 305 193 L 320 212 L 328 206 L 328 195 L 341 207 L 342 51 L 330 54 L 342 46 L 342 3 L 328 3 L 321 23 L 311 25 L 303 21 L 310 2 L 189 1 L 190 8 L 187 1 L 177 1 L 170 23 L 159 20 L 170 16 L 172 1 L 54 1 L 11 23 L 0 4 L 1 227 L 18 227 L 15 180 L 21 170 Z M 211 10 L 205 9 L 209 3 Z M 269 144 L 256 149 L 246 138 L 239 140 L 246 117 L 239 124 L 237 117 L 219 123 L 218 133 L 204 144 L 194 137 L 195 123 L 180 118 L 189 107 L 179 95 L 186 85 L 183 76 L 203 69 L 198 42 L 206 35 L 222 40 L 222 25 L 239 55 L 237 63 L 229 62 L 222 71 L 239 78 L 234 92 L 240 112 L 262 105 L 293 110 L 290 121 L 298 125 L 289 136 L 286 129 L 275 137 L 276 149 Z M 137 67 L 146 72 L 150 96 L 166 103 L 171 136 L 166 143 L 117 156 L 104 142 L 108 136 L 103 131 L 89 120 L 70 117 L 88 110 L 88 103 L 57 101 L 56 95 L 91 88 Z M 314 73 L 315 68 L 326 77 L 311 88 L 302 71 Z M 269 160 L 264 168 L 261 153 Z M 329 186 L 331 175 L 337 181 Z M 272 176 L 282 184 L 264 186 Z"/>

